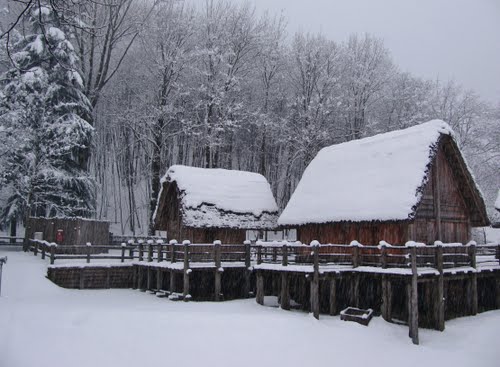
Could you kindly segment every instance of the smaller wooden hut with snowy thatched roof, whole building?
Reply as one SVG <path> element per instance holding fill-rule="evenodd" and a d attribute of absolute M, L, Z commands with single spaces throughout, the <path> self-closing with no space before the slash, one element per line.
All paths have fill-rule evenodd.
<path fill-rule="evenodd" d="M 161 185 L 155 227 L 169 239 L 243 243 L 247 230 L 276 227 L 278 206 L 257 173 L 176 165 Z"/>

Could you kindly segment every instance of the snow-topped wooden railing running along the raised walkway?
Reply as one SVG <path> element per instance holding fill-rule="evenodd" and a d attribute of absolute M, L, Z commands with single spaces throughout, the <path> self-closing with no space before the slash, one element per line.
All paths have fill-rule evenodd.
<path fill-rule="evenodd" d="M 129 240 L 120 245 L 109 246 L 71 246 L 76 254 L 59 254 L 57 245 L 40 240 L 30 240 L 30 250 L 37 255 L 41 252 L 42 259 L 47 254 L 50 263 L 55 260 L 85 259 L 91 260 L 137 260 L 139 262 L 171 263 L 212 263 L 220 267 L 222 263 L 239 262 L 247 267 L 251 263 L 288 265 L 345 265 L 357 268 L 360 266 L 377 268 L 411 268 L 412 251 L 415 252 L 417 267 L 447 269 L 457 267 L 500 266 L 500 245 L 476 245 L 470 242 L 442 243 L 436 241 L 434 245 L 407 242 L 404 246 L 391 245 L 381 241 L 378 246 L 364 246 L 357 241 L 346 244 L 319 244 L 317 241 L 305 245 L 300 242 L 288 241 L 257 241 L 251 244 L 214 243 L 192 244 L 189 241 L 178 243 L 171 240 L 166 243 L 161 239 Z M 415 249 L 415 250 L 413 250 Z M 95 253 L 100 251 L 101 253 Z"/>

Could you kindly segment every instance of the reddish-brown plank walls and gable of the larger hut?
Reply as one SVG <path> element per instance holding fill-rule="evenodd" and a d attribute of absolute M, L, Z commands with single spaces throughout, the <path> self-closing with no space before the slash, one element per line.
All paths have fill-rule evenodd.
<path fill-rule="evenodd" d="M 457 182 L 460 176 L 454 173 L 442 148 L 434 158 L 428 177 L 413 221 L 308 224 L 297 228 L 297 239 L 302 243 L 318 240 L 337 244 L 357 240 L 366 245 L 377 245 L 381 240 L 391 244 L 404 244 L 409 240 L 427 244 L 436 240 L 468 242 L 471 214 Z"/>

